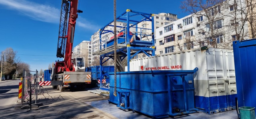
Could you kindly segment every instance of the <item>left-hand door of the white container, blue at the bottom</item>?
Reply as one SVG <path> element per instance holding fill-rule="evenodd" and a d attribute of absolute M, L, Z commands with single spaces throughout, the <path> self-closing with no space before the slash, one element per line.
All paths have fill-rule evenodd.
<path fill-rule="evenodd" d="M 210 110 L 226 108 L 224 65 L 222 51 L 210 49 L 206 53 Z"/>

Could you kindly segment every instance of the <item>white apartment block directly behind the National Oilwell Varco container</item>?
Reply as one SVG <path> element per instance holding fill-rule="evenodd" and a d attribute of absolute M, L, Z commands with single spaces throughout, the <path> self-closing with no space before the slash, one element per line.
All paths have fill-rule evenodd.
<path fill-rule="evenodd" d="M 243 15 L 234 17 L 234 7 L 243 8 L 244 4 L 232 5 L 230 1 L 225 1 L 207 9 L 207 14 L 200 11 L 157 28 L 155 54 L 161 55 L 203 46 L 232 49 L 232 41 L 238 38 L 236 30 L 241 30 L 239 25 L 243 24 L 239 21 Z M 212 21 L 212 27 L 209 19 Z M 243 30 L 248 32 L 248 25 L 243 24 Z M 244 39 L 246 38 L 248 35 L 244 35 Z"/>

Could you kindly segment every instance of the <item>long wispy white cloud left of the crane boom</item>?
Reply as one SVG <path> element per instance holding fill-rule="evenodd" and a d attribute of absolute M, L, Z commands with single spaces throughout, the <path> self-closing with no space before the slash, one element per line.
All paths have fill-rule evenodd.
<path fill-rule="evenodd" d="M 37 21 L 58 23 L 60 19 L 60 10 L 50 5 L 26 0 L 1 0 L 1 4 Z"/>

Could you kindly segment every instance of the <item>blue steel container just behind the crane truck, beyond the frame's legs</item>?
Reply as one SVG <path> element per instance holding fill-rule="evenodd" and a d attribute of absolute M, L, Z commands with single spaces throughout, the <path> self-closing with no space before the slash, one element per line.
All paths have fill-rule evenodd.
<path fill-rule="evenodd" d="M 105 77 L 106 83 L 109 83 L 109 72 L 114 72 L 114 66 L 102 66 L 102 79 Z M 92 80 L 100 80 L 100 66 L 87 67 L 85 72 L 91 72 Z"/>

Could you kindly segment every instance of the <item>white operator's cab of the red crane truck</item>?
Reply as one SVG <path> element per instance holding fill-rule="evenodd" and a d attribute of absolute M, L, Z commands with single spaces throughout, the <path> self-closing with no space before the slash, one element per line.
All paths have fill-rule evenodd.
<path fill-rule="evenodd" d="M 73 64 L 74 64 L 73 67 L 75 68 L 75 72 L 85 71 L 84 58 L 74 58 Z"/>

